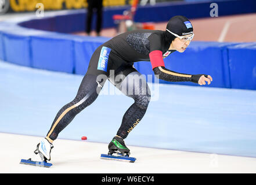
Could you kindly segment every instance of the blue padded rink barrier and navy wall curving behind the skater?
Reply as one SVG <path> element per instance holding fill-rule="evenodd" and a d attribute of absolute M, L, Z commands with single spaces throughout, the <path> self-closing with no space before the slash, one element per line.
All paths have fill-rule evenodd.
<path fill-rule="evenodd" d="M 227 10 L 230 14 L 238 13 L 237 7 L 239 5 L 241 7 L 244 6 L 240 0 L 218 1 L 218 5 L 220 6 L 222 3 L 232 2 L 234 6 L 232 6 L 232 8 L 229 7 L 232 10 L 229 8 L 229 10 Z M 252 6 L 242 12 L 248 13 L 255 11 L 254 8 L 256 6 L 254 7 L 253 5 L 256 1 L 247 0 L 246 2 L 248 2 L 248 5 Z M 199 7 L 208 6 L 210 2 L 196 3 L 196 5 Z M 138 19 L 139 21 L 149 21 L 150 17 L 147 17 L 146 12 L 143 13 L 143 11 L 149 11 L 151 9 L 156 11 L 156 16 L 153 16 L 154 18 L 159 16 L 154 21 L 159 21 L 160 17 L 163 21 L 167 16 L 165 17 L 161 13 L 157 14 L 157 12 L 165 10 L 166 8 L 172 9 L 181 6 L 186 9 L 189 6 L 193 8 L 195 4 L 185 2 L 160 3 L 157 6 L 139 7 L 136 15 L 138 16 L 140 14 L 140 16 L 138 16 L 140 17 L 140 19 Z M 104 10 L 103 27 L 113 27 L 112 15 L 122 13 L 122 11 L 127 8 L 128 7 L 107 8 Z M 65 34 L 84 30 L 85 13 L 85 10 L 67 10 L 64 13 L 49 14 L 44 18 L 26 18 L 21 21 L 16 21 L 16 23 L 1 22 L 0 59 L 19 65 L 31 66 L 33 68 L 84 75 L 93 52 L 97 47 L 110 39 Z M 173 15 L 176 14 L 175 11 L 172 13 Z M 142 14 L 145 15 L 142 16 Z M 197 16 L 205 15 L 197 14 Z M 168 18 L 170 18 L 170 15 Z M 255 45 L 256 42 L 245 44 L 193 41 L 185 53 L 178 53 L 178 51 L 176 51 L 165 58 L 165 66 L 172 71 L 180 73 L 211 75 L 214 80 L 209 87 L 246 88 L 255 90 L 256 69 L 253 62 L 253 57 L 256 54 L 254 49 Z M 153 75 L 150 62 L 135 62 L 134 66 L 140 73 Z M 160 80 L 160 83 L 173 82 Z M 199 86 L 198 84 L 190 82 L 175 82 L 175 84 Z"/>

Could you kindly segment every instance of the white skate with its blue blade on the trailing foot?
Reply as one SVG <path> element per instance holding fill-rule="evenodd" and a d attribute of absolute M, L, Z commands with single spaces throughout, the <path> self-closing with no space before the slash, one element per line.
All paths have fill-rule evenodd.
<path fill-rule="evenodd" d="M 53 148 L 53 145 L 48 142 L 47 139 L 42 139 L 40 143 L 37 145 L 37 149 L 35 149 L 34 153 L 37 155 L 39 154 L 39 157 L 41 158 L 41 161 L 38 157 L 35 157 L 35 160 L 31 160 L 29 158 L 28 160 L 21 160 L 20 164 L 27 164 L 27 165 L 33 165 L 33 166 L 41 166 L 49 168 L 52 166 L 51 163 L 48 163 L 47 161 L 51 160 L 51 150 Z"/>

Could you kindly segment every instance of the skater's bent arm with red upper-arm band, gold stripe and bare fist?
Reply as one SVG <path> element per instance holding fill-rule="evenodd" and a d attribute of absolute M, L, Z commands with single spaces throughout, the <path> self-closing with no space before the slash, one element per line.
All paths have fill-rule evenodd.
<path fill-rule="evenodd" d="M 154 74 L 159 77 L 159 79 L 169 82 L 193 82 L 200 85 L 205 85 L 205 82 L 208 82 L 208 84 L 212 82 L 212 77 L 210 75 L 189 75 L 185 73 L 177 73 L 165 68 L 163 53 L 160 50 L 150 52 L 149 57 Z"/>

